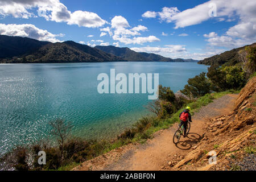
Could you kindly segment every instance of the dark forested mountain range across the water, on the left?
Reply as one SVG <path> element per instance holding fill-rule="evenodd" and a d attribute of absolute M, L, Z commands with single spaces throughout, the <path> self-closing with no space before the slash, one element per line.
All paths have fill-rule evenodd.
<path fill-rule="evenodd" d="M 114 46 L 90 47 L 73 41 L 43 42 L 18 36 L 0 35 L 0 63 L 80 63 L 104 61 L 168 61 L 191 62 L 192 59 L 171 59 L 154 53 L 135 52 Z"/>

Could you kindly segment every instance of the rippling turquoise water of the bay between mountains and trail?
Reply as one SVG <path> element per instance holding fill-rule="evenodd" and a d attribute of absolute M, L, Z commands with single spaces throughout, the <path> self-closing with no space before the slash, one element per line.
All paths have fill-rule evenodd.
<path fill-rule="evenodd" d="M 110 68 L 159 73 L 159 83 L 174 92 L 207 71 L 197 63 L 0 64 L 0 154 L 46 137 L 55 118 L 72 121 L 72 133 L 85 138 L 113 137 L 133 125 L 148 113 L 148 94 L 99 94 L 97 76 Z"/>

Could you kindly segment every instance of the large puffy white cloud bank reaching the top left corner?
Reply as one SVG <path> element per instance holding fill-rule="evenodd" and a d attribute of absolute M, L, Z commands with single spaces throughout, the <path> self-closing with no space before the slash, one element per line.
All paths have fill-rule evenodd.
<path fill-rule="evenodd" d="M 106 23 L 96 13 L 88 11 L 74 11 L 73 13 L 59 0 L 2 0 L 0 1 L 0 15 L 12 15 L 14 18 L 36 17 L 32 9 L 38 11 L 38 16 L 55 22 L 67 22 L 82 27 L 101 27 Z"/>

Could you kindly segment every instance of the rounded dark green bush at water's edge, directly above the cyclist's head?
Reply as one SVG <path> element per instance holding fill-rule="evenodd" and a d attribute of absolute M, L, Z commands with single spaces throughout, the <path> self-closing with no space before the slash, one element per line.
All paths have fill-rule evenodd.
<path fill-rule="evenodd" d="M 188 79 L 188 84 L 184 86 L 181 92 L 189 97 L 201 97 L 207 93 L 210 93 L 210 82 L 208 78 L 205 77 L 205 73 L 200 73 L 200 75 L 194 78 Z"/>

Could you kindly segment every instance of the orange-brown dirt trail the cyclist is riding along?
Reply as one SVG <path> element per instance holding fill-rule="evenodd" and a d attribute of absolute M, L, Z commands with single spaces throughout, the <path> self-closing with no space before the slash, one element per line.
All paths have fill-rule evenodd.
<path fill-rule="evenodd" d="M 223 114 L 232 113 L 237 94 L 228 94 L 201 109 L 192 116 L 191 131 L 187 138 L 172 142 L 178 123 L 154 134 L 146 144 L 129 144 L 82 163 L 75 170 L 164 170 L 170 156 L 183 156 L 192 151 L 203 137 L 205 121 Z"/>

